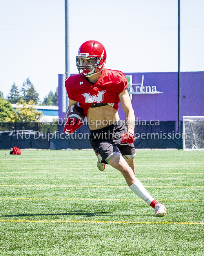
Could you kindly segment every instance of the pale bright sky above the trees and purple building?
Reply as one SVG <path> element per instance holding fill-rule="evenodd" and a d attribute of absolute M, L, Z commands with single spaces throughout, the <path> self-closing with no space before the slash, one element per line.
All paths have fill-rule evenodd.
<path fill-rule="evenodd" d="M 204 71 L 204 0 L 181 0 L 181 71 Z M 70 71 L 87 40 L 107 51 L 107 69 L 177 71 L 177 0 L 70 0 Z M 65 72 L 64 0 L 0 1 L 0 91 L 30 78 L 40 100 Z"/>

